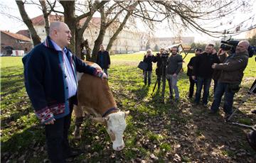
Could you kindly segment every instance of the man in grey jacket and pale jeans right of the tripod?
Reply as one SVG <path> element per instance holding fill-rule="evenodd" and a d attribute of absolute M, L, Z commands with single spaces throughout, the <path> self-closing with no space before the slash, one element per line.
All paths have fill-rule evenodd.
<path fill-rule="evenodd" d="M 175 92 L 175 101 L 179 100 L 178 94 L 178 73 L 182 69 L 182 56 L 178 55 L 178 47 L 171 47 L 171 56 L 167 60 L 166 79 L 169 83 L 170 99 L 173 99 L 173 90 Z"/>

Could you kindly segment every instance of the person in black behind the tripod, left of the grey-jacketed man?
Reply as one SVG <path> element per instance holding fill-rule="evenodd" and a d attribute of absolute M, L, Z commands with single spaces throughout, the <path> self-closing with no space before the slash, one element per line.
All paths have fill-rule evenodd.
<path fill-rule="evenodd" d="M 156 62 L 156 76 L 157 76 L 157 89 L 160 88 L 161 85 L 161 75 L 162 72 L 162 60 L 161 57 L 164 54 L 164 48 L 161 48 L 159 53 L 156 53 L 156 57 L 154 57 L 153 62 Z"/>

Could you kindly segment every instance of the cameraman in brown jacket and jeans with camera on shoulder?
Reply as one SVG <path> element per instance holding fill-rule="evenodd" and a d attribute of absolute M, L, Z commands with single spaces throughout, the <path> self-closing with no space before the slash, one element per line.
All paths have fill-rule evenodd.
<path fill-rule="evenodd" d="M 213 69 L 219 69 L 221 73 L 214 93 L 213 104 L 210 107 L 210 113 L 218 112 L 221 98 L 225 93 L 223 110 L 226 120 L 232 113 L 233 98 L 240 89 L 239 84 L 242 81 L 243 71 L 248 63 L 249 55 L 247 49 L 249 45 L 250 43 L 247 40 L 240 41 L 235 48 L 235 53 L 229 55 L 223 63 L 212 65 Z"/>

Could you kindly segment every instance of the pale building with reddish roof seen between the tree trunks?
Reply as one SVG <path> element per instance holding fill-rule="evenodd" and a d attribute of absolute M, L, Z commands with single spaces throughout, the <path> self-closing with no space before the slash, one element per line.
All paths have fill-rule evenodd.
<path fill-rule="evenodd" d="M 80 20 L 80 24 L 85 22 L 86 18 Z M 45 30 L 45 21 L 43 15 L 32 18 L 33 26 L 36 28 L 36 32 L 38 33 L 41 40 L 46 39 L 46 30 Z M 49 22 L 53 21 L 64 21 L 63 16 L 49 16 Z M 114 34 L 114 27 L 110 26 L 107 28 L 105 33 L 105 38 L 103 40 L 103 45 L 107 47 L 110 38 Z M 97 39 L 97 36 L 100 32 L 100 18 L 92 18 L 90 21 L 90 25 L 86 28 L 83 33 L 84 39 L 88 40 L 89 46 L 92 49 L 94 46 L 94 42 Z M 135 30 L 129 30 L 128 28 L 123 28 L 123 30 L 117 36 L 117 39 L 114 41 L 112 45 L 112 51 L 115 53 L 126 53 L 126 52 L 137 52 L 140 50 L 141 45 L 141 33 Z"/>

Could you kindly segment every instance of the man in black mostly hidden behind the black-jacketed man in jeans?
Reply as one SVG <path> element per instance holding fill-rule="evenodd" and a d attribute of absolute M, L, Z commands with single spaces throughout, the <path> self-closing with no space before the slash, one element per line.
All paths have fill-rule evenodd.
<path fill-rule="evenodd" d="M 188 98 L 191 99 L 193 97 L 193 90 L 194 90 L 194 86 L 196 84 L 196 80 L 193 80 L 192 79 L 192 76 L 193 76 L 193 64 L 196 60 L 196 57 L 198 55 L 200 55 L 202 52 L 201 49 L 196 49 L 195 50 L 195 55 L 194 57 L 191 57 L 191 60 L 189 60 L 188 62 L 188 72 L 187 72 L 187 75 L 189 77 L 189 93 L 188 93 Z"/>

